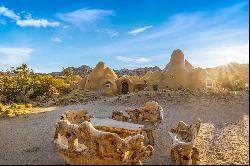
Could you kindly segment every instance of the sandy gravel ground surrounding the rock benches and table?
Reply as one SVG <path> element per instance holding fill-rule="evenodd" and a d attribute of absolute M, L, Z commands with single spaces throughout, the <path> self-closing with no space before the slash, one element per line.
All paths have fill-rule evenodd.
<path fill-rule="evenodd" d="M 228 97 L 150 95 L 130 96 L 122 101 L 103 98 L 85 105 L 45 108 L 46 112 L 0 120 L 0 164 L 64 164 L 54 149 L 55 123 L 65 110 L 89 109 L 95 117 L 111 117 L 112 111 L 157 101 L 164 121 L 154 131 L 155 154 L 144 164 L 174 164 L 169 152 L 168 131 L 178 121 L 202 121 L 196 140 L 201 164 L 249 164 L 249 93 Z"/>

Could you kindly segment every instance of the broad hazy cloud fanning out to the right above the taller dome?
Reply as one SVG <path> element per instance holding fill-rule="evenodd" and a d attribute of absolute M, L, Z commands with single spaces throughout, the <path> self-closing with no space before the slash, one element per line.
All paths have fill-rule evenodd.
<path fill-rule="evenodd" d="M 136 57 L 133 55 L 138 55 L 151 59 L 152 64 L 158 63 L 158 66 L 165 66 L 168 63 L 169 56 L 175 48 L 183 50 L 190 63 L 199 62 L 197 66 L 201 67 L 227 63 L 230 60 L 229 57 L 232 57 L 232 61 L 234 59 L 238 62 L 243 62 L 243 59 L 249 61 L 247 58 L 249 53 L 244 53 L 247 51 L 245 47 L 234 48 L 234 50 L 245 50 L 238 51 L 237 54 L 236 51 L 230 53 L 228 49 L 225 49 L 224 53 L 230 53 L 224 56 L 226 62 L 223 62 L 222 56 L 220 62 L 214 60 L 217 59 L 216 54 L 213 54 L 213 56 L 194 56 L 194 54 L 189 53 L 190 50 L 197 50 L 196 55 L 201 55 L 210 50 L 217 50 L 218 47 L 224 50 L 226 47 L 239 46 L 240 43 L 249 41 L 247 26 L 232 26 L 232 19 L 228 19 L 234 17 L 233 25 L 241 25 L 241 19 L 248 18 L 248 14 L 245 13 L 236 17 L 235 12 L 239 12 L 239 10 L 234 10 L 234 12 L 216 10 L 210 13 L 177 13 L 166 20 L 165 23 L 158 25 L 148 33 L 138 35 L 136 38 L 125 38 L 98 47 L 86 48 L 83 51 L 86 54 L 105 54 L 114 57 L 119 55 Z M 199 51 L 201 51 L 201 54 Z M 151 55 L 161 56 L 160 58 L 154 58 Z"/>

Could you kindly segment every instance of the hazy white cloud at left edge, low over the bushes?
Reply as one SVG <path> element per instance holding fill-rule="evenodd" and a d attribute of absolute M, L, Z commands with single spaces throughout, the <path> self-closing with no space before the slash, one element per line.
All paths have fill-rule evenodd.
<path fill-rule="evenodd" d="M 12 67 L 25 63 L 32 52 L 31 48 L 0 46 L 0 65 Z"/>

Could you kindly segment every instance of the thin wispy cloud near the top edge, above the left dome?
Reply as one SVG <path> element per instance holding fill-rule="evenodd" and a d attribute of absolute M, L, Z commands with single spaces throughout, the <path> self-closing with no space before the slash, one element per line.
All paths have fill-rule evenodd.
<path fill-rule="evenodd" d="M 95 23 L 113 14 L 114 12 L 112 10 L 83 8 L 68 13 L 59 13 L 58 17 L 63 21 L 82 27 L 85 23 Z"/>

